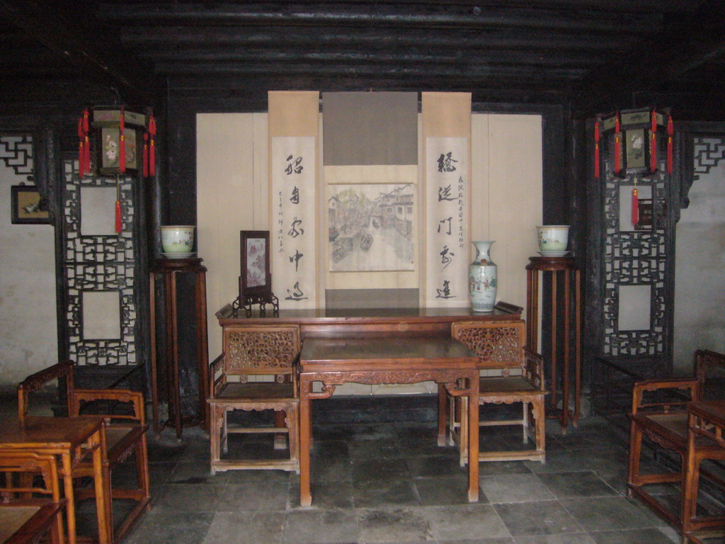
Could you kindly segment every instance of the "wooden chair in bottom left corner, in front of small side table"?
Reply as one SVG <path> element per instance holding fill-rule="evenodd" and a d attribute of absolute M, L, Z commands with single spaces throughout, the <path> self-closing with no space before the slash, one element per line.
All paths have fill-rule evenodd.
<path fill-rule="evenodd" d="M 62 508 L 57 461 L 51 455 L 18 450 L 0 450 L 0 472 L 5 487 L 0 490 L 0 543 L 35 544 L 50 532 L 53 544 L 63 543 Z M 45 487 L 33 485 L 33 474 L 40 473 Z M 25 475 L 14 485 L 14 474 Z M 26 482 L 26 483 L 23 483 Z M 13 500 L 12 495 L 19 496 Z M 33 495 L 44 495 L 37 498 Z"/>

